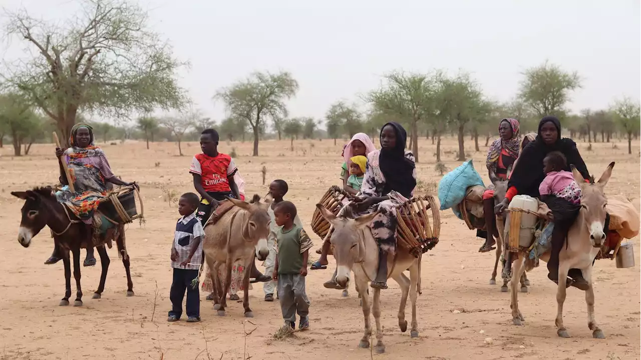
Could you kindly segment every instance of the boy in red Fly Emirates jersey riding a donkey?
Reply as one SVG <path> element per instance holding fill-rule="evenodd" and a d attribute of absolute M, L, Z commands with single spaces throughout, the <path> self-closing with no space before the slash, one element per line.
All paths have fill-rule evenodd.
<path fill-rule="evenodd" d="M 189 168 L 189 172 L 194 176 L 194 188 L 201 195 L 196 218 L 203 226 L 219 202 L 227 197 L 240 199 L 238 186 L 234 181 L 238 168 L 231 156 L 218 152 L 219 138 L 218 132 L 214 129 L 204 129 L 200 141 L 203 152 L 194 156 Z M 255 263 L 251 268 L 250 277 L 256 279 L 253 282 L 272 279 L 269 275 L 260 274 Z"/>

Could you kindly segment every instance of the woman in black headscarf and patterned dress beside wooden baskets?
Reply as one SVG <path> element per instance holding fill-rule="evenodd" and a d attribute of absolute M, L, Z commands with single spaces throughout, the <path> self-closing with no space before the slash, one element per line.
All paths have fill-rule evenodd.
<path fill-rule="evenodd" d="M 412 197 L 416 186 L 414 155 L 405 151 L 407 133 L 403 126 L 388 122 L 381 129 L 381 150 L 367 155 L 367 169 L 363 177 L 360 197 L 356 203 L 357 215 L 379 211 L 372 221 L 372 235 L 380 247 L 379 268 L 372 288 L 387 289 L 387 256 L 396 247 L 395 206 Z"/>

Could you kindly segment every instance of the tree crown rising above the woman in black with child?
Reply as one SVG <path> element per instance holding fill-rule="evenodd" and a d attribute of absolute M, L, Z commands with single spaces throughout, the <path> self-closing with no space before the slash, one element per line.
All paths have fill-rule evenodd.
<path fill-rule="evenodd" d="M 570 91 L 581 87 L 577 72 L 565 72 L 545 61 L 526 70 L 520 83 L 519 97 L 537 112 L 539 117 L 559 115 L 570 99 Z"/>

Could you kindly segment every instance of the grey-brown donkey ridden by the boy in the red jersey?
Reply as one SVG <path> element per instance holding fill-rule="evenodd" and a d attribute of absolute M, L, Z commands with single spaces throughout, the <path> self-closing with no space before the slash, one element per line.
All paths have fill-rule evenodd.
<path fill-rule="evenodd" d="M 231 267 L 237 261 L 242 261 L 245 267 L 243 286 L 245 295 L 243 307 L 245 317 L 252 318 L 249 308 L 249 269 L 254 261 L 254 255 L 263 261 L 269 255 L 267 236 L 269 235 L 269 213 L 267 204 L 260 202 L 260 196 L 254 195 L 252 202 L 229 198 L 235 207 L 216 222 L 204 227 L 203 251 L 210 276 L 213 281 L 214 306 L 219 316 L 225 316 L 227 293 L 231 286 Z M 224 266 L 224 284 L 218 276 L 219 269 Z"/>

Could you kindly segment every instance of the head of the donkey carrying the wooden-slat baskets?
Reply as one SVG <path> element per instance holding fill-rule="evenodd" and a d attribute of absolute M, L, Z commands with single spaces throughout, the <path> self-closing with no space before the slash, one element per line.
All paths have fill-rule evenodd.
<path fill-rule="evenodd" d="M 366 236 L 369 231 L 363 233 L 363 229 L 372 223 L 378 213 L 353 218 L 351 209 L 346 206 L 344 215 L 336 217 L 321 204 L 316 204 L 316 208 L 319 209 L 320 215 L 334 227 L 329 241 L 331 245 L 334 245 L 334 258 L 337 266 L 336 282 L 345 286 L 349 281 L 349 274 L 354 263 L 361 263 L 365 258 L 363 236 Z"/>

